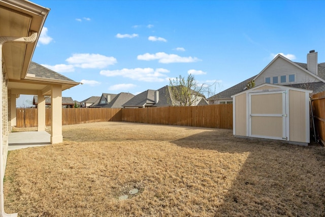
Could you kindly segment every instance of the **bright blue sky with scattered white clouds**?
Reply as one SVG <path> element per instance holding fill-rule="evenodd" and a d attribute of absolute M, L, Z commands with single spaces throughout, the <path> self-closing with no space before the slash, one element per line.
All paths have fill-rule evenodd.
<path fill-rule="evenodd" d="M 31 1 L 51 9 L 32 61 L 82 82 L 62 92 L 78 101 L 189 73 L 217 94 L 278 53 L 325 62 L 325 1 Z"/>

